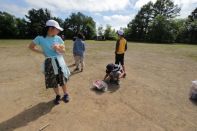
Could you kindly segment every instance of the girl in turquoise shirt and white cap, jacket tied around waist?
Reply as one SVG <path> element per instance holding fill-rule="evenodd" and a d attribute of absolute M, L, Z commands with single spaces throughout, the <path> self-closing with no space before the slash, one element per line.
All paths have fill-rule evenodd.
<path fill-rule="evenodd" d="M 48 20 L 43 29 L 43 34 L 37 36 L 29 45 L 32 51 L 45 56 L 43 64 L 45 85 L 47 89 L 54 89 L 56 94 L 55 104 L 59 104 L 61 99 L 58 86 L 61 86 L 64 92 L 63 101 L 69 101 L 66 83 L 70 76 L 70 71 L 63 58 L 65 46 L 64 41 L 58 36 L 60 31 L 63 31 L 63 29 L 59 26 L 57 21 Z M 37 46 L 40 46 L 42 50 L 38 49 Z"/>

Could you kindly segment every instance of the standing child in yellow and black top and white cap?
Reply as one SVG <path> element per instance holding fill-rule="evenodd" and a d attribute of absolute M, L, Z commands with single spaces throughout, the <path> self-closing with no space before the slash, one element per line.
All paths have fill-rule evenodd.
<path fill-rule="evenodd" d="M 125 65 L 124 65 L 124 54 L 127 50 L 127 40 L 124 38 L 124 32 L 121 30 L 117 31 L 118 40 L 116 42 L 116 49 L 115 49 L 115 64 L 121 64 L 124 77 L 126 76 Z"/>

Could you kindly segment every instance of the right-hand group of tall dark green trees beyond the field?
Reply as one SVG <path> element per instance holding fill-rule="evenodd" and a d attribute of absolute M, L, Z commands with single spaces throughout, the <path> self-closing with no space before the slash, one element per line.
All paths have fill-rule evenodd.
<path fill-rule="evenodd" d="M 125 28 L 128 40 L 155 43 L 197 44 L 197 8 L 178 19 L 181 8 L 171 0 L 145 4 Z"/>

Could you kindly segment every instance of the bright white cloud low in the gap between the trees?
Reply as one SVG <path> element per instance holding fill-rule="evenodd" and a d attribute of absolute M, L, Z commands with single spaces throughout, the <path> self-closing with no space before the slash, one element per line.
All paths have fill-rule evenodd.
<path fill-rule="evenodd" d="M 127 24 L 131 21 L 133 17 L 133 15 L 103 16 L 103 21 L 105 24 L 109 24 L 117 30 L 121 27 L 127 27 Z"/>

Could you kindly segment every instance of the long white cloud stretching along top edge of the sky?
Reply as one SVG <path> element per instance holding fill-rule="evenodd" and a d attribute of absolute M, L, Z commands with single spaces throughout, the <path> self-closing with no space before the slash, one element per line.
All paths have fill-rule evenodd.
<path fill-rule="evenodd" d="M 52 11 L 117 11 L 130 5 L 129 0 L 25 0 L 37 8 L 48 8 Z"/>

